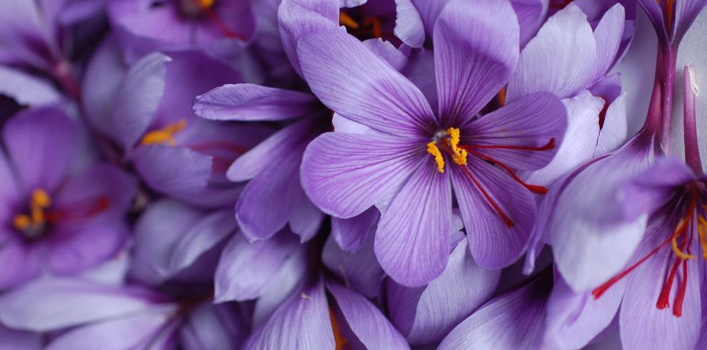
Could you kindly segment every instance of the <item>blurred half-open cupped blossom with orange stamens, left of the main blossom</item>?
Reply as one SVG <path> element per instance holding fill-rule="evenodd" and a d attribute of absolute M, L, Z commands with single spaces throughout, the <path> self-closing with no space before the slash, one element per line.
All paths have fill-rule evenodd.
<path fill-rule="evenodd" d="M 193 205 L 233 203 L 242 186 L 226 180 L 226 169 L 270 128 L 197 118 L 191 103 L 199 93 L 238 81 L 239 74 L 194 51 L 154 53 L 127 70 L 116 53 L 104 44 L 84 86 L 92 100 L 86 103 L 92 125 L 123 149 L 118 161 L 132 163 L 153 190 Z"/>

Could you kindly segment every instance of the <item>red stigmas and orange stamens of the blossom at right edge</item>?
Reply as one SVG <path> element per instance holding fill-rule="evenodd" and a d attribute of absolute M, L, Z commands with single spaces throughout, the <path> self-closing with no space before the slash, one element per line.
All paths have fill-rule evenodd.
<path fill-rule="evenodd" d="M 695 259 L 692 255 L 691 243 L 693 237 L 695 237 L 695 227 L 697 229 L 697 235 L 700 239 L 700 245 L 702 248 L 702 257 L 707 260 L 707 220 L 703 215 L 697 212 L 697 195 L 698 191 L 694 185 L 691 185 L 691 195 L 690 202 L 688 205 L 688 210 L 686 215 L 678 222 L 678 225 L 673 231 L 673 233 L 668 237 L 667 240 L 661 242 L 658 247 L 648 252 L 646 256 L 638 260 L 636 264 L 631 265 L 627 269 L 623 270 L 620 274 L 612 277 L 608 282 L 602 284 L 601 286 L 594 289 L 591 294 L 594 299 L 599 299 L 602 294 L 604 294 L 613 284 L 626 277 L 628 274 L 633 272 L 636 267 L 646 262 L 649 258 L 659 252 L 661 249 L 666 247 L 668 244 L 671 245 L 671 251 L 675 255 L 675 262 L 673 262 L 673 267 L 671 268 L 668 277 L 663 283 L 663 289 L 661 289 L 661 294 L 658 295 L 658 301 L 656 302 L 656 307 L 658 309 L 666 309 L 670 307 L 670 292 L 673 287 L 673 282 L 677 275 L 678 269 L 682 266 L 682 275 L 680 287 L 678 288 L 678 293 L 674 299 L 673 315 L 680 317 L 682 316 L 683 301 L 685 299 L 685 294 L 687 292 L 688 283 L 688 273 L 687 273 L 687 262 L 691 259 Z M 703 206 L 704 210 L 707 210 L 707 206 Z"/>

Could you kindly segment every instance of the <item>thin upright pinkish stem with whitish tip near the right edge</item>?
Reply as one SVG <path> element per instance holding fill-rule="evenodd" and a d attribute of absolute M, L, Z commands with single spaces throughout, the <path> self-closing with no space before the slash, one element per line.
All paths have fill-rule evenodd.
<path fill-rule="evenodd" d="M 695 96 L 697 85 L 694 82 L 695 72 L 691 66 L 685 66 L 685 98 L 683 100 L 683 130 L 685 137 L 685 162 L 695 171 L 702 174 L 700 146 L 697 140 L 697 125 L 695 121 Z"/>

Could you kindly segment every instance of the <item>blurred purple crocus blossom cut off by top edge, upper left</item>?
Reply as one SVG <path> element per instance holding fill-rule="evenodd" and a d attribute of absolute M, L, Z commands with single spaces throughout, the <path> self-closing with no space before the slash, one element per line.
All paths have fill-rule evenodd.
<path fill-rule="evenodd" d="M 248 41 L 255 30 L 246 0 L 111 1 L 109 18 L 129 62 L 169 49 L 219 56 L 219 46 Z"/>

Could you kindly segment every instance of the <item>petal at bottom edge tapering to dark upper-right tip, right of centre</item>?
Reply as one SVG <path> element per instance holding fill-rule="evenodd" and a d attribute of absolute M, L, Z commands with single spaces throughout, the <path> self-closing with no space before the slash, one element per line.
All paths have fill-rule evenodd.
<path fill-rule="evenodd" d="M 540 349 L 549 277 L 501 294 L 471 314 L 437 349 Z"/>

